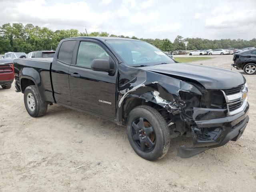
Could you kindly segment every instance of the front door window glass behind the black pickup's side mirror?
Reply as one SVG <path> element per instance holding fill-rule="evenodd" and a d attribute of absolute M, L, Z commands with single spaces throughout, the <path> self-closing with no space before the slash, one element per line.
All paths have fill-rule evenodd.
<path fill-rule="evenodd" d="M 76 65 L 84 68 L 91 68 L 94 59 L 109 59 L 107 52 L 98 44 L 93 42 L 80 42 Z"/>

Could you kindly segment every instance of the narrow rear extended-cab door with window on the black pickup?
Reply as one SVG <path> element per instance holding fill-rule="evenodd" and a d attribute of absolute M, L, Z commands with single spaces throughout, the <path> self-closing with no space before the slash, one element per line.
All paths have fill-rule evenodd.
<path fill-rule="evenodd" d="M 75 44 L 76 40 L 63 41 L 60 45 L 58 56 L 54 57 L 52 62 L 52 85 L 54 98 L 56 102 L 70 106 L 71 96 L 68 70 L 72 61 Z"/>

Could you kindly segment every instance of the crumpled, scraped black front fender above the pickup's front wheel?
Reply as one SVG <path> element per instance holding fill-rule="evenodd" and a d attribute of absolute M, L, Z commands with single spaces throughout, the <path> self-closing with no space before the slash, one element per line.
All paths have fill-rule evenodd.
<path fill-rule="evenodd" d="M 196 86 L 177 78 L 165 76 L 163 74 L 139 70 L 140 68 L 130 68 L 120 65 L 120 79 L 118 83 L 118 114 L 122 116 L 123 106 L 130 97 L 140 98 L 145 102 L 152 102 L 166 109 L 172 115 L 181 114 L 186 108 L 186 102 L 180 98 L 180 92 L 188 92 L 201 95 Z M 122 71 L 129 71 L 130 79 L 122 76 Z M 127 75 L 126 75 L 127 77 Z M 132 77 L 132 78 L 131 78 Z"/>

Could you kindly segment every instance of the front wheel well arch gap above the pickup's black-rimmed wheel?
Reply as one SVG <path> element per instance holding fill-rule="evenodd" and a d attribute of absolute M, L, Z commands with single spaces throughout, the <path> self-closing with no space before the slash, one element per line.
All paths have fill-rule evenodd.
<path fill-rule="evenodd" d="M 126 118 L 128 116 L 128 114 L 131 112 L 132 109 L 134 109 L 137 106 L 140 105 L 147 105 L 147 106 L 151 106 L 152 108 L 156 109 L 158 112 L 160 112 L 160 114 L 164 117 L 164 119 L 166 120 L 166 122 L 168 122 L 170 120 L 170 114 L 169 112 L 163 108 L 162 106 L 147 101 L 145 99 L 142 98 L 137 98 L 137 97 L 129 97 L 125 100 L 124 102 L 124 106 L 123 106 L 123 119 L 124 122 L 126 122 Z"/>

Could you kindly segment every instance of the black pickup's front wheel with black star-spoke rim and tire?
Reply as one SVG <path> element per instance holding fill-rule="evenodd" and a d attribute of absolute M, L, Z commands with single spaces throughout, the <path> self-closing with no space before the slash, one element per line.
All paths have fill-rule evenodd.
<path fill-rule="evenodd" d="M 150 106 L 138 106 L 128 115 L 127 134 L 133 150 L 150 161 L 165 156 L 170 146 L 170 131 L 163 116 Z"/>

